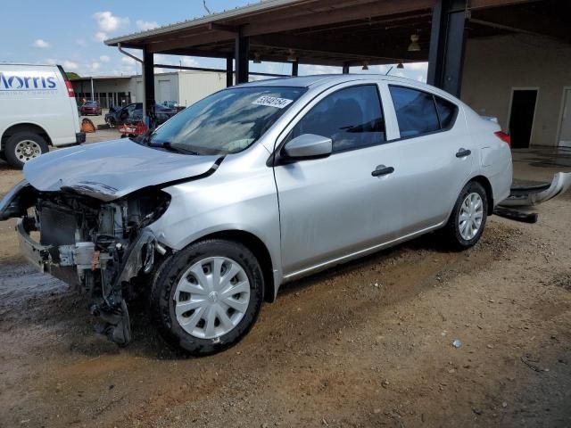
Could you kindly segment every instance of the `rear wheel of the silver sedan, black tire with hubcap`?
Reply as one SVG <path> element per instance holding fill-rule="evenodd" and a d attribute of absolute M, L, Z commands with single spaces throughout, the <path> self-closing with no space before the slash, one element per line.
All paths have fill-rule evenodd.
<path fill-rule="evenodd" d="M 487 214 L 488 199 L 484 187 L 475 181 L 469 182 L 460 192 L 443 229 L 451 249 L 461 251 L 475 245 L 484 233 Z"/>

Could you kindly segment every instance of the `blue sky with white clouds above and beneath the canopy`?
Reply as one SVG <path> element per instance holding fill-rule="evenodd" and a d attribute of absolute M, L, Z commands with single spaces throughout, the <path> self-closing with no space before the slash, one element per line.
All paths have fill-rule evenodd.
<path fill-rule="evenodd" d="M 245 0 L 206 0 L 211 12 L 252 3 Z M 256 2 L 253 2 L 256 3 Z M 140 65 L 119 53 L 103 40 L 153 29 L 207 14 L 202 0 L 117 1 L 20 0 L 0 13 L 0 62 L 60 64 L 80 76 L 127 75 L 141 72 Z M 137 56 L 140 51 L 133 50 Z M 224 69 L 224 60 L 155 55 L 155 63 Z M 385 74 L 391 66 L 369 66 L 368 71 L 352 67 L 352 72 Z M 251 71 L 289 74 L 291 65 L 262 62 Z M 166 70 L 165 70 L 166 71 Z M 300 74 L 340 72 L 340 68 L 300 65 Z M 161 72 L 161 70 L 155 70 Z M 426 63 L 393 68 L 391 75 L 426 81 Z"/>

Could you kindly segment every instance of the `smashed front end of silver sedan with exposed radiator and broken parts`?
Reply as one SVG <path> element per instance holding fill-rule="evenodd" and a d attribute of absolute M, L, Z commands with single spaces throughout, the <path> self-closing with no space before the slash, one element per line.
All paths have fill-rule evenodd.
<path fill-rule="evenodd" d="M 113 342 L 130 341 L 127 301 L 144 292 L 167 249 L 147 227 L 167 210 L 170 195 L 150 187 L 120 199 L 65 188 L 41 192 L 26 181 L 0 203 L 0 220 L 19 218 L 21 251 L 42 272 L 78 284 L 98 331 Z"/>

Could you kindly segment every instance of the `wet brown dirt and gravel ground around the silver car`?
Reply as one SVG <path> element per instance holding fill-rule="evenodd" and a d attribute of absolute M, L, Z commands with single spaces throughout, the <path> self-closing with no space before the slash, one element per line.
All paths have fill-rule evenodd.
<path fill-rule="evenodd" d="M 571 152 L 515 167 L 549 180 Z M 0 164 L 0 194 L 20 177 Z M 571 426 L 571 193 L 535 211 L 490 218 L 469 251 L 427 235 L 289 284 L 243 342 L 198 359 L 144 312 L 128 348 L 107 342 L 0 223 L 0 426 Z"/>

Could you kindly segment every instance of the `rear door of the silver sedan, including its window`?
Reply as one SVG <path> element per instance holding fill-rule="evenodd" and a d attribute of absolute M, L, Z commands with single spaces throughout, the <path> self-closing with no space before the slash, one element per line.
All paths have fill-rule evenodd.
<path fill-rule="evenodd" d="M 395 175 L 404 175 L 401 233 L 410 234 L 447 220 L 477 152 L 455 103 L 414 86 L 387 88 L 392 100 L 387 115 L 394 114 L 399 138 L 386 144 L 391 151 L 386 155 L 396 162 Z"/>

